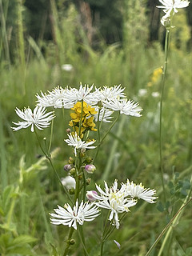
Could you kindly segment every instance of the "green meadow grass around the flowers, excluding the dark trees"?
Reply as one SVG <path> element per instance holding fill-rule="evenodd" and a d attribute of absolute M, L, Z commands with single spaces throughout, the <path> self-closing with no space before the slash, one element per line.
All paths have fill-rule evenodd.
<path fill-rule="evenodd" d="M 21 2 L 19 2 L 19 5 Z M 143 108 L 142 118 L 123 118 L 110 131 L 95 162 L 97 170 L 91 177 L 89 190 L 94 189 L 94 182 L 113 182 L 114 178 L 126 181 L 143 182 L 146 186 L 157 189 L 156 206 L 140 202 L 131 213 L 124 218 L 122 229 L 117 230 L 106 242 L 108 248 L 105 255 L 146 255 L 150 246 L 158 238 L 166 224 L 176 214 L 182 203 L 190 196 L 191 187 L 191 56 L 183 46 L 175 45 L 176 36 L 171 38 L 168 73 L 165 87 L 165 98 L 162 116 L 162 161 L 165 172 L 167 198 L 163 203 L 162 183 L 159 163 L 159 99 L 152 97 L 153 92 L 160 92 L 159 80 L 153 86 L 147 86 L 155 68 L 163 64 L 163 50 L 160 43 L 146 46 L 133 34 L 134 28 L 129 28 L 133 36 L 132 45 L 128 42 L 106 46 L 93 50 L 86 42 L 82 27 L 78 25 L 74 6 L 66 15 L 66 23 L 61 18 L 51 1 L 54 17 L 55 43 L 46 45 L 46 54 L 42 57 L 41 47 L 33 40 L 25 41 L 22 37 L 21 10 L 18 15 L 18 56 L 21 65 L 10 65 L 8 69 L 2 60 L 0 71 L 0 159 L 1 159 L 1 195 L 0 195 L 0 252 L 2 255 L 57 255 L 63 252 L 68 228 L 55 227 L 50 224 L 49 213 L 58 205 L 63 205 L 67 198 L 63 194 L 57 177 L 55 177 L 46 158 L 38 158 L 41 150 L 34 134 L 30 130 L 14 133 L 10 126 L 17 121 L 14 113 L 16 106 L 34 107 L 35 94 L 40 90 L 52 90 L 58 84 L 61 86 L 77 86 L 79 82 L 95 86 L 114 86 L 122 84 L 126 87 L 128 97 L 138 101 Z M 22 6 L 20 6 L 21 8 Z M 132 8 L 138 6 L 132 6 Z M 134 9 L 133 9 L 134 10 Z M 19 11 L 19 9 L 18 9 Z M 141 15 L 141 14 L 140 14 Z M 182 14 L 183 15 L 183 14 Z M 129 16 L 130 17 L 130 16 Z M 57 19 L 56 19 L 57 18 Z M 126 18 L 126 15 L 125 15 Z M 134 17 L 132 17 L 134 19 Z M 176 19 L 176 17 L 175 17 Z M 63 31 L 67 22 L 71 22 L 68 40 Z M 179 16 L 181 22 L 181 17 Z M 124 21 L 126 24 L 126 20 Z M 132 21 L 138 22 L 137 19 Z M 183 22 L 183 20 L 182 20 Z M 186 23 L 184 21 L 184 25 Z M 183 25 L 183 26 L 184 26 Z M 126 26 L 125 26 L 126 27 Z M 5 35 L 5 26 L 2 26 Z M 177 28 L 175 29 L 177 30 Z M 126 33 L 126 30 L 125 30 Z M 187 37 L 186 37 L 187 38 Z M 6 42 L 6 35 L 5 35 Z M 144 40 L 144 39 L 143 39 Z M 145 39 L 146 40 L 146 39 Z M 184 39 L 183 39 L 184 40 Z M 62 45 L 62 42 L 65 42 Z M 71 42 L 69 44 L 69 42 Z M 137 42 L 134 46 L 134 42 Z M 145 41 L 146 42 L 146 41 Z M 6 46 L 5 60 L 8 60 L 9 50 Z M 30 55 L 24 54 L 24 48 L 30 49 Z M 63 47 L 63 48 L 62 48 Z M 67 47 L 71 47 L 69 51 Z M 27 51 L 26 51 L 27 53 Z M 57 53 L 57 54 L 55 54 Z M 37 55 L 37 56 L 36 56 Z M 26 58 L 28 56 L 29 58 Z M 56 57 L 55 57 L 56 56 Z M 61 65 L 71 63 L 74 70 L 66 72 Z M 138 96 L 140 89 L 146 89 L 146 95 Z M 63 138 L 66 138 L 66 128 L 69 118 L 57 111 L 55 120 L 53 146 L 59 148 L 54 153 L 54 166 L 60 177 L 66 174 L 63 166 L 72 154 L 66 148 Z M 107 126 L 103 126 L 107 130 Z M 50 130 L 39 132 L 41 138 L 49 138 Z M 191 254 L 191 203 L 182 210 L 182 216 L 169 231 L 169 237 L 162 237 L 150 255 Z M 90 255 L 98 255 L 100 233 L 95 226 L 85 224 L 86 245 Z M 166 238 L 166 242 L 164 240 Z M 78 235 L 74 239 L 78 242 Z M 113 239 L 120 242 L 121 249 L 114 244 Z M 163 242 L 164 241 L 164 242 Z M 163 245 L 163 250 L 161 249 Z M 82 255 L 82 248 L 76 246 L 77 255 Z M 71 254 L 73 251 L 71 246 Z"/>

